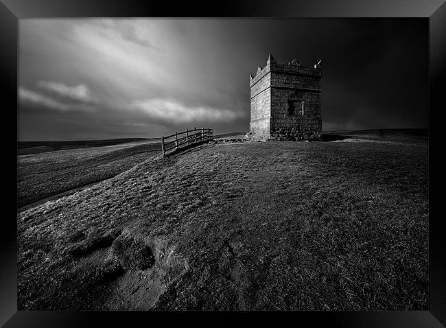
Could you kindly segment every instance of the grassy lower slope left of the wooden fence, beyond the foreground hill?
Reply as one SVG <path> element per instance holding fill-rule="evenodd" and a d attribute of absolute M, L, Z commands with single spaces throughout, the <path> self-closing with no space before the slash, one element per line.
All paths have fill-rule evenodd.
<path fill-rule="evenodd" d="M 159 143 L 145 140 L 19 156 L 19 207 L 112 178 L 160 152 Z"/>

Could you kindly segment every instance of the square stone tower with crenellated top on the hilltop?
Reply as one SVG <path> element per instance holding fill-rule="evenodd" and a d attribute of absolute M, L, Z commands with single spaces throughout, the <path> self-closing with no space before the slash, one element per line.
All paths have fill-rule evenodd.
<path fill-rule="evenodd" d="M 320 140 L 322 60 L 303 67 L 298 60 L 278 64 L 268 56 L 266 67 L 250 75 L 253 139 Z"/>

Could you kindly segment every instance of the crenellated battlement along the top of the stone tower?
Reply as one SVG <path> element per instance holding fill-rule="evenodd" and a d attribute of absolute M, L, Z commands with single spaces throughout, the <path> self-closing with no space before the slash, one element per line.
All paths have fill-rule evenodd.
<path fill-rule="evenodd" d="M 322 76 L 322 59 L 319 60 L 314 67 L 303 67 L 300 61 L 293 59 L 287 64 L 279 64 L 276 62 L 272 54 L 268 56 L 266 61 L 266 66 L 263 69 L 259 66 L 255 76 L 250 74 L 250 86 L 253 86 L 259 80 L 263 78 L 266 74 L 273 73 L 283 73 L 283 74 L 293 74 L 293 75 L 307 75 L 307 76 Z"/>

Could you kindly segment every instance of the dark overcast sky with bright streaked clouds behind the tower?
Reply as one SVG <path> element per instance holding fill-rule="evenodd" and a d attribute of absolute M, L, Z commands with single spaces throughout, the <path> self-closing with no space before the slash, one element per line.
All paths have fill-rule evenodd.
<path fill-rule="evenodd" d="M 249 130 L 249 74 L 322 58 L 322 127 L 427 128 L 425 19 L 20 19 L 19 140 Z"/>

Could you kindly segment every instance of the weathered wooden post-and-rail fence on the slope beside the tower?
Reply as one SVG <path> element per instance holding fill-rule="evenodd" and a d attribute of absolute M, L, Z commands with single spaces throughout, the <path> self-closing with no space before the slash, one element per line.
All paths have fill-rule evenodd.
<path fill-rule="evenodd" d="M 185 130 L 184 132 L 171 134 L 167 137 L 161 137 L 161 151 L 163 156 L 169 152 L 169 150 L 178 150 L 179 148 L 186 148 L 193 143 L 201 143 L 202 141 L 208 141 L 213 139 L 213 129 L 197 129 Z M 182 136 L 182 137 L 181 137 Z"/>

